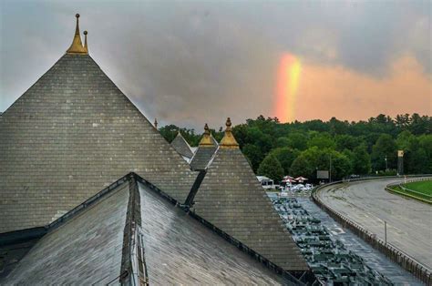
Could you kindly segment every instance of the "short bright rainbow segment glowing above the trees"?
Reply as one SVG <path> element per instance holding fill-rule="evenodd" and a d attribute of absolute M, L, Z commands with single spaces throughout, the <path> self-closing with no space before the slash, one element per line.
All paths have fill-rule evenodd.
<path fill-rule="evenodd" d="M 278 67 L 274 111 L 281 122 L 295 119 L 295 100 L 298 93 L 302 64 L 298 57 L 284 54 Z"/>

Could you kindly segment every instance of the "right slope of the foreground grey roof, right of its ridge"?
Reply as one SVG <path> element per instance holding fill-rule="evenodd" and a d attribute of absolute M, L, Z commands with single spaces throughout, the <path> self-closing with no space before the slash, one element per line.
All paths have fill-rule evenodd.
<path fill-rule="evenodd" d="M 282 283 L 282 277 L 139 184 L 149 284 Z"/>

